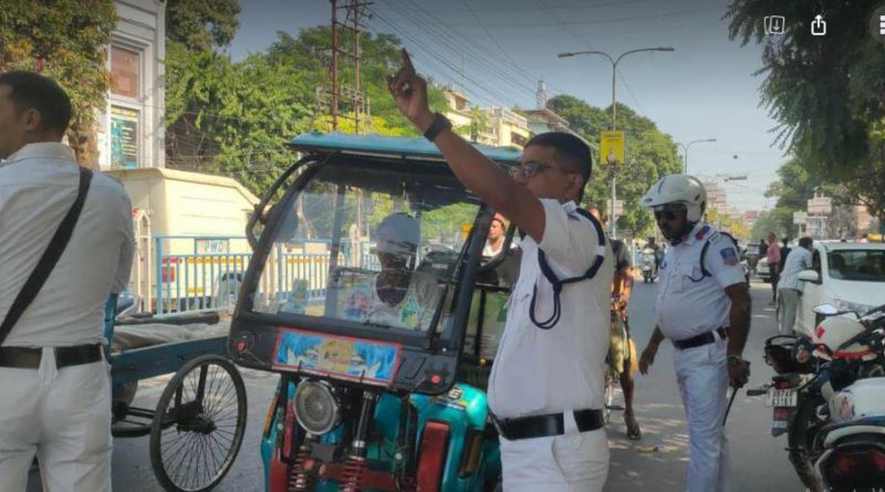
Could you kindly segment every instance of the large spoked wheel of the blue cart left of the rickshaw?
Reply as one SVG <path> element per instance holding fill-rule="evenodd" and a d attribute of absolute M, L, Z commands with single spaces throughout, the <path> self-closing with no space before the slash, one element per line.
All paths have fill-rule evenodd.
<path fill-rule="evenodd" d="M 150 465 L 169 492 L 208 491 L 230 471 L 246 431 L 246 386 L 217 355 L 185 364 L 163 391 L 150 425 Z"/>

